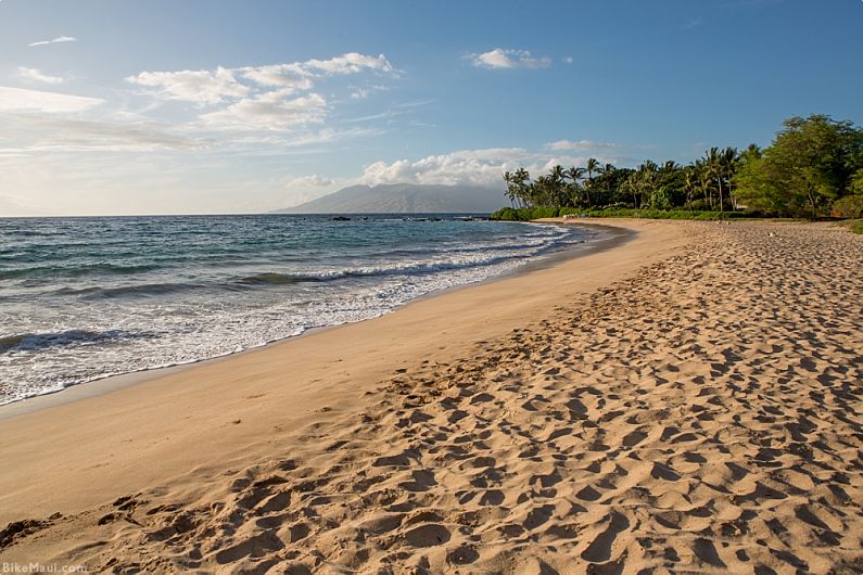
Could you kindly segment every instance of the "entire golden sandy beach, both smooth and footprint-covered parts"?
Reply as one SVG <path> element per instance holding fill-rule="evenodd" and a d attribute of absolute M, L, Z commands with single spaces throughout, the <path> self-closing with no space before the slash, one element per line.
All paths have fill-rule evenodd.
<path fill-rule="evenodd" d="M 602 223 L 637 235 L 0 420 L 0 562 L 860 573 L 863 237 Z"/>

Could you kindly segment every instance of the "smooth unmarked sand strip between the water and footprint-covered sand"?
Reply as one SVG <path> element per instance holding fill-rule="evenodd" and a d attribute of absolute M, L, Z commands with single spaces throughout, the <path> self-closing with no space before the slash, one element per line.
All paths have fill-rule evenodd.
<path fill-rule="evenodd" d="M 690 241 L 675 226 L 620 226 L 638 233 L 615 250 L 2 420 L 0 456 L 16 469 L 0 476 L 0 524 L 266 457 L 274 434 L 356 405 L 396 370 L 470 354 L 535 322 L 537 307 L 605 286 Z"/>

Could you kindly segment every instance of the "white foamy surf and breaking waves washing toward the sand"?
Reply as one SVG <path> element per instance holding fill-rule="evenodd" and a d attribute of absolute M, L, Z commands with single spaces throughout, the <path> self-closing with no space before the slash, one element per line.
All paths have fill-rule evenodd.
<path fill-rule="evenodd" d="M 417 297 L 487 280 L 589 240 L 589 234 L 553 227 L 496 233 L 480 240 L 454 233 L 444 242 L 416 245 L 396 238 L 390 244 L 382 241 L 379 252 L 328 250 L 303 265 L 250 252 L 254 257 L 215 258 L 216 265 L 193 271 L 162 272 L 157 282 L 152 274 L 136 274 L 94 286 L 76 277 L 58 286 L 41 284 L 37 277 L 18 291 L 41 294 L 41 308 L 0 308 L 2 324 L 21 328 L 0 333 L 0 404 L 375 318 Z M 295 252 L 288 255 L 297 259 Z M 283 260 L 289 263 L 279 263 Z"/>

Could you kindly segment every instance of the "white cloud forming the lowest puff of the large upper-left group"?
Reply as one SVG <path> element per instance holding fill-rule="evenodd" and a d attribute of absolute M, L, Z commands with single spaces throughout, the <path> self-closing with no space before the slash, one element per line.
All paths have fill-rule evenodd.
<path fill-rule="evenodd" d="M 224 110 L 204 114 L 201 119 L 210 126 L 241 130 L 280 130 L 323 122 L 327 101 L 322 95 L 287 98 L 292 92 L 276 90 L 244 98 Z"/>

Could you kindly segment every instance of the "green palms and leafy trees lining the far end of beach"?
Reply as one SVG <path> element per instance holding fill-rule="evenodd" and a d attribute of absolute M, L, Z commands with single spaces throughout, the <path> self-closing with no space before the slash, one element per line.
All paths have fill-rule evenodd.
<path fill-rule="evenodd" d="M 863 129 L 825 115 L 783 123 L 770 146 L 711 148 L 689 163 L 635 168 L 588 158 L 531 178 L 504 174 L 511 207 L 493 219 L 540 217 L 863 217 Z"/>

